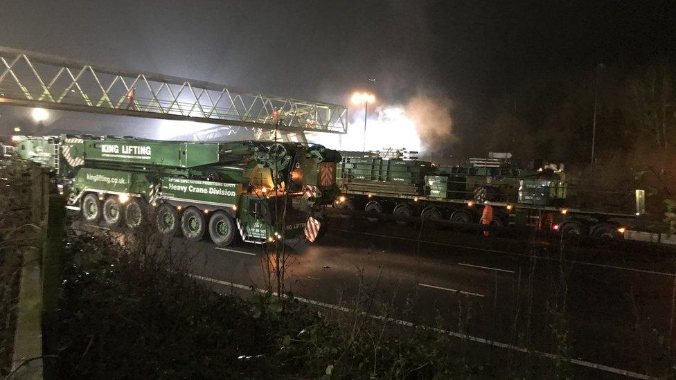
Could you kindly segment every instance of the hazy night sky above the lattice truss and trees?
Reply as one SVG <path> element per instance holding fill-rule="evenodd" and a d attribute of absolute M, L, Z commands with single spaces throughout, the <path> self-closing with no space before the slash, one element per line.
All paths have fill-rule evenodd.
<path fill-rule="evenodd" d="M 5 1 L 0 44 L 341 104 L 425 93 L 452 101 L 463 141 L 533 78 L 673 60 L 674 15 L 670 1 Z M 0 109 L 0 125 L 22 113 Z"/>

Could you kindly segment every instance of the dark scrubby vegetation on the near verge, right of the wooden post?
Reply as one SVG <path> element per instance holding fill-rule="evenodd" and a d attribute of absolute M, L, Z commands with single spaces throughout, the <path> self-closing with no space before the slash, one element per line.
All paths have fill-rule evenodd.
<path fill-rule="evenodd" d="M 177 270 L 182 260 L 150 248 L 158 242 L 112 239 L 68 238 L 59 322 L 45 332 L 46 354 L 57 358 L 49 377 L 490 376 L 450 336 L 359 312 L 330 318 L 291 294 L 218 295 Z"/>

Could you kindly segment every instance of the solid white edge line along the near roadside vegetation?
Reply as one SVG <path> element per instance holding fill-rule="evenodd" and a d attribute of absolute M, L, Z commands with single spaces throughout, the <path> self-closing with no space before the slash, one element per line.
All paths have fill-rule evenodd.
<path fill-rule="evenodd" d="M 234 282 L 229 282 L 229 281 L 216 280 L 215 278 L 208 278 L 208 277 L 204 277 L 202 275 L 195 275 L 195 274 L 192 274 L 192 273 L 188 273 L 188 276 L 190 278 L 195 278 L 197 280 L 202 280 L 204 282 L 213 282 L 215 284 L 226 285 L 226 286 L 234 287 L 234 288 L 238 288 L 238 289 L 253 290 L 253 291 L 257 291 L 258 293 L 267 293 L 267 291 L 264 290 L 264 289 L 258 289 L 258 288 L 253 287 L 253 286 L 247 286 L 247 285 L 242 285 L 242 284 L 235 284 Z M 276 293 L 276 292 L 274 292 L 273 294 L 275 296 L 278 296 L 278 293 Z M 309 300 L 308 298 L 302 298 L 302 297 L 294 296 L 294 299 L 299 300 L 300 302 L 303 302 L 303 303 L 307 303 L 308 305 L 315 305 L 315 306 L 319 306 L 319 307 L 324 307 L 326 309 L 344 311 L 346 313 L 354 313 L 355 312 L 354 309 L 349 309 L 348 307 L 342 307 L 342 306 L 338 306 L 338 305 L 332 305 L 332 304 L 326 303 L 326 302 Z M 407 320 L 394 319 L 394 318 L 389 318 L 389 317 L 385 317 L 385 316 L 378 316 L 378 315 L 375 315 L 375 314 L 367 314 L 364 311 L 358 311 L 358 313 L 359 313 L 359 315 L 362 315 L 362 316 L 368 316 L 369 318 L 373 318 L 373 319 L 376 319 L 376 320 L 383 320 L 385 322 L 395 323 L 396 325 L 402 325 L 402 326 L 407 326 L 407 327 L 415 327 L 416 326 L 415 324 L 413 324 L 412 322 L 408 322 Z M 471 335 L 468 335 L 468 334 L 461 334 L 459 332 L 452 332 L 450 330 L 440 329 L 438 327 L 426 327 L 426 328 L 431 329 L 432 331 L 438 332 L 440 334 L 447 334 L 449 336 L 453 336 L 454 338 L 461 338 L 461 339 L 465 339 L 467 341 L 472 341 L 472 342 L 475 342 L 475 343 L 483 343 L 483 344 L 486 344 L 486 345 L 492 345 L 494 347 L 504 348 L 506 350 L 513 350 L 513 351 L 516 351 L 516 352 L 522 352 L 524 354 L 536 354 L 536 355 L 546 357 L 548 359 L 561 360 L 561 357 L 559 355 L 550 354 L 549 352 L 540 352 L 540 351 L 537 351 L 537 350 L 528 350 L 527 348 L 519 347 L 517 345 L 511 345 L 511 344 L 508 344 L 508 343 L 501 343 L 501 342 L 498 342 L 498 341 L 491 341 L 490 339 L 479 338 L 477 336 L 471 336 Z M 614 368 L 614 367 L 610 367 L 608 365 L 592 363 L 591 361 L 585 361 L 585 360 L 580 360 L 580 359 L 569 359 L 569 360 L 570 360 L 570 363 L 580 365 L 581 367 L 593 368 L 595 370 L 610 372 L 610 373 L 614 373 L 614 374 L 621 374 L 621 375 L 626 376 L 626 377 L 633 377 L 634 379 L 646 379 L 646 380 L 647 379 L 654 379 L 653 377 L 648 376 L 647 374 L 641 374 L 641 373 L 638 373 L 638 372 L 622 370 L 620 368 Z"/>

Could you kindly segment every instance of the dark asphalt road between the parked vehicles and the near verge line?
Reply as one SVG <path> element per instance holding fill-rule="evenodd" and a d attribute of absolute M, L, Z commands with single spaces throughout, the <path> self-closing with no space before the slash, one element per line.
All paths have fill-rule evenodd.
<path fill-rule="evenodd" d="M 676 289 L 669 255 L 572 242 L 542 248 L 535 237 L 515 241 L 361 219 L 331 223 L 317 244 L 287 242 L 287 291 L 328 307 L 563 351 L 642 374 L 668 366 Z M 274 259 L 263 246 L 220 248 L 179 238 L 172 247 L 217 291 L 267 289 Z"/>

